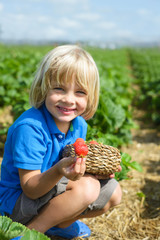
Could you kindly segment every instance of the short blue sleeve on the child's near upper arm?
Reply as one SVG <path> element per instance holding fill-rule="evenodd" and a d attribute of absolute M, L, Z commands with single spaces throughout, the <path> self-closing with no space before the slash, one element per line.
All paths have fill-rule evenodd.
<path fill-rule="evenodd" d="M 26 170 L 41 169 L 46 154 L 43 133 L 33 126 L 18 126 L 12 135 L 14 166 Z"/>

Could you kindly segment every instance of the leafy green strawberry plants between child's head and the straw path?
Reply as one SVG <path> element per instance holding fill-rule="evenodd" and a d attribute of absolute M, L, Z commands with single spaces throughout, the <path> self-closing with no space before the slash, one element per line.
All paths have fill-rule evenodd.
<path fill-rule="evenodd" d="M 100 100 L 95 116 L 88 121 L 87 139 L 96 138 L 104 144 L 121 146 L 131 142 L 131 91 L 133 79 L 127 67 L 125 49 L 89 49 L 95 59 L 101 80 Z"/>

